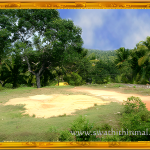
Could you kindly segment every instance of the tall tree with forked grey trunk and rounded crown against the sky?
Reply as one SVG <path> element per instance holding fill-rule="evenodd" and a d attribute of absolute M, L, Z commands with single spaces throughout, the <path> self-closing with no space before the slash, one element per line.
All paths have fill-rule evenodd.
<path fill-rule="evenodd" d="M 71 20 L 58 19 L 49 22 L 44 36 L 43 40 L 40 35 L 33 37 L 36 50 L 26 43 L 18 43 L 28 70 L 36 76 L 37 88 L 40 88 L 40 77 L 46 69 L 63 67 L 83 51 L 81 29 L 74 26 Z"/>

